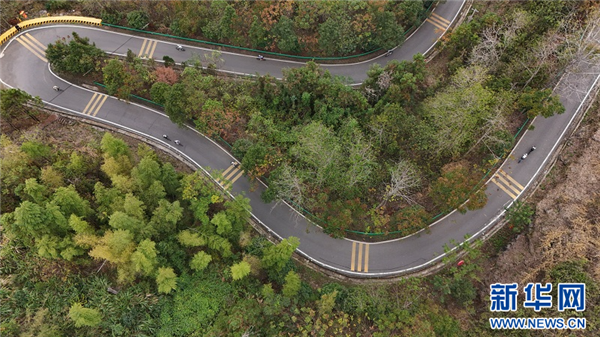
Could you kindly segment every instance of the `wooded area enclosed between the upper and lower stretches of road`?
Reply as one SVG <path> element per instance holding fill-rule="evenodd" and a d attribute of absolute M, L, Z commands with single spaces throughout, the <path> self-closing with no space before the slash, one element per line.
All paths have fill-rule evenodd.
<path fill-rule="evenodd" d="M 282 81 L 222 77 L 218 52 L 184 67 L 133 52 L 82 58 L 80 67 L 95 65 L 84 78 L 107 93 L 152 99 L 174 122 L 230 144 L 245 173 L 266 180 L 265 201 L 293 202 L 334 236 L 403 236 L 449 210 L 485 205 L 481 178 L 527 119 L 564 111 L 549 88 L 572 58 L 588 7 L 507 4 L 502 16 L 474 16 L 449 34 L 443 69 L 416 55 L 372 67 L 359 90 L 311 62 Z M 63 60 L 85 48 L 92 41 L 74 35 L 47 57 L 74 74 Z"/>

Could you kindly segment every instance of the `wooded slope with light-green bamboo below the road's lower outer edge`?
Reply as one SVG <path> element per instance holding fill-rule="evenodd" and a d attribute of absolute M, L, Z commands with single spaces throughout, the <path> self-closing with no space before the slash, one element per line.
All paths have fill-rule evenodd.
<path fill-rule="evenodd" d="M 0 98 L 7 97 L 5 91 L 1 94 Z M 333 282 L 292 263 L 289 254 L 297 243 L 294 239 L 287 241 L 288 246 L 272 245 L 253 235 L 247 225 L 241 227 L 237 240 L 216 240 L 229 243 L 225 244 L 231 249 L 227 257 L 226 250 L 215 249 L 209 238 L 221 237 L 215 232 L 224 227 L 217 227 L 213 220 L 218 214 L 226 214 L 227 218 L 232 210 L 225 205 L 232 201 L 226 201 L 204 179 L 175 161 L 171 164 L 167 155 L 127 137 L 85 125 L 64 124 L 64 120 L 48 123 L 49 116 L 43 110 L 23 107 L 23 111 L 39 121 L 30 117 L 19 120 L 13 124 L 20 126 L 19 131 L 3 124 L 1 138 L 2 336 L 504 336 L 507 331 L 493 332 L 487 321 L 491 316 L 489 284 L 495 282 L 585 282 L 587 310 L 583 315 L 588 319 L 588 328 L 580 335 L 598 332 L 600 280 L 594 248 L 597 238 L 593 234 L 598 218 L 595 215 L 600 212 L 600 203 L 594 196 L 598 187 L 589 182 L 589 175 L 578 174 L 598 164 L 595 154 L 599 149 L 592 140 L 594 133 L 599 132 L 597 105 L 584 123 L 584 133 L 565 151 L 567 157 L 561 161 L 564 168 L 556 171 L 542 187 L 540 196 L 530 201 L 535 204 L 536 213 L 544 216 L 536 215 L 531 221 L 531 206 L 525 204 L 512 211 L 518 216 L 510 220 L 511 224 L 532 223 L 533 227 L 522 227 L 518 233 L 516 227 L 505 227 L 484 245 L 468 245 L 466 255 L 459 258 L 464 261 L 462 265 L 450 256 L 449 266 L 437 275 L 375 285 Z M 124 157 L 113 160 L 116 149 Z M 153 234 L 144 239 L 146 244 L 141 243 L 144 240 L 137 243 L 135 236 L 133 242 L 126 240 L 129 250 L 122 253 L 129 262 L 123 262 L 112 259 L 124 256 L 113 249 L 118 248 L 120 240 L 103 247 L 107 248 L 105 253 L 117 254 L 96 255 L 93 249 L 77 245 L 77 230 L 101 239 L 113 233 L 114 238 L 117 231 L 129 232 L 130 229 L 111 226 L 119 218 L 129 217 L 127 212 L 137 210 L 135 216 L 148 219 L 150 208 L 139 212 L 138 207 L 131 207 L 131 201 L 142 196 L 132 189 L 123 197 L 120 189 L 126 184 L 115 185 L 105 172 L 110 166 L 107 162 L 127 160 L 132 168 L 124 171 L 121 179 L 130 181 L 132 188 L 141 177 L 152 177 L 147 173 L 154 171 L 144 170 L 144 166 L 159 167 L 161 172 L 167 167 L 175 172 L 175 179 L 170 181 L 180 183 L 175 190 L 177 197 L 167 194 L 166 201 L 161 200 L 171 205 L 179 202 L 183 215 L 174 225 L 175 230 Z M 171 171 L 170 166 L 178 168 Z M 169 185 L 163 178 L 157 181 Z M 113 193 L 124 199 L 99 207 L 102 200 L 109 199 L 98 198 L 96 186 L 105 195 Z M 578 191 L 576 198 L 565 201 L 564 191 L 574 188 Z M 184 194 L 196 195 L 196 200 L 188 200 Z M 70 197 L 65 198 L 66 195 Z M 46 221 L 64 218 L 65 206 L 73 206 L 69 207 L 71 212 L 79 212 L 88 209 L 86 204 L 92 209 L 87 217 L 72 213 L 69 220 L 74 220 L 66 221 L 66 225 L 63 220 L 57 222 L 63 224 L 60 229 Z M 35 223 L 35 214 L 23 218 L 23 207 L 42 206 L 49 211 L 42 216 L 38 213 L 39 222 Z M 111 213 L 112 208 L 123 210 Z M 157 209 L 152 213 L 158 214 Z M 561 213 L 566 218 L 557 217 L 553 213 L 556 209 L 569 210 Z M 571 222 L 569 214 L 582 216 Z M 36 224 L 35 232 L 23 236 L 19 231 L 27 227 L 19 227 L 23 223 L 17 221 Z M 139 228 L 162 233 L 159 230 L 165 225 L 170 223 L 158 225 L 150 220 Z M 59 238 L 62 240 L 58 244 L 44 244 L 48 239 Z M 69 238 L 75 243 L 71 249 L 63 245 Z M 202 240 L 206 244 L 198 246 Z M 155 258 L 148 254 L 153 249 L 146 249 L 151 246 L 147 245 L 150 241 L 155 243 Z M 534 255 L 524 260 L 523 256 L 529 254 Z M 153 260 L 158 263 L 152 263 Z M 145 275 L 144 270 L 153 272 Z M 131 271 L 134 278 L 127 279 Z M 535 313 L 520 308 L 507 316 L 556 315 L 555 310 Z"/>

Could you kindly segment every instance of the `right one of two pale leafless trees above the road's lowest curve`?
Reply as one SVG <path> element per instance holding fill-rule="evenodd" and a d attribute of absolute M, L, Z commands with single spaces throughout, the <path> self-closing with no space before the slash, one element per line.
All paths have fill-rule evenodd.
<path fill-rule="evenodd" d="M 378 207 L 395 200 L 395 198 L 415 203 L 412 193 L 419 186 L 421 186 L 421 177 L 418 169 L 408 160 L 400 159 L 390 169 L 390 183 L 386 185 L 383 200 Z"/>

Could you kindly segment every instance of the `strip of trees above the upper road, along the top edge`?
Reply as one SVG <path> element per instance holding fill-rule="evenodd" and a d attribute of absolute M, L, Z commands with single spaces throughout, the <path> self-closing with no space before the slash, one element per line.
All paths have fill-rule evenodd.
<path fill-rule="evenodd" d="M 6 12 L 73 12 L 145 31 L 305 56 L 391 49 L 434 1 L 30 1 Z M 13 9 L 14 10 L 11 10 Z M 5 23 L 3 23 L 5 24 Z M 14 24 L 14 23 L 12 23 Z"/>

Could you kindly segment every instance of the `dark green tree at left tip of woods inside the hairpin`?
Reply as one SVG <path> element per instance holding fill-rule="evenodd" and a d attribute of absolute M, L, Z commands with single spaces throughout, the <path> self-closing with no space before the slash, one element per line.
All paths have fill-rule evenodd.
<path fill-rule="evenodd" d="M 61 39 L 50 43 L 46 48 L 46 58 L 58 71 L 85 74 L 96 68 L 96 64 L 104 57 L 104 52 L 90 44 L 90 40 L 72 33 L 72 39 Z"/>

